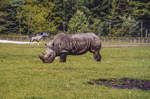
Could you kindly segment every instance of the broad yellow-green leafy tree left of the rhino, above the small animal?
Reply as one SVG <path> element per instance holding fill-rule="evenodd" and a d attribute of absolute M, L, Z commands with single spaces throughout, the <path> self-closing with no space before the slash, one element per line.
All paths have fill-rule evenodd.
<path fill-rule="evenodd" d="M 25 5 L 18 11 L 18 20 L 22 20 L 24 31 L 54 32 L 57 29 L 55 13 L 52 11 L 54 4 L 48 0 L 26 0 Z"/>

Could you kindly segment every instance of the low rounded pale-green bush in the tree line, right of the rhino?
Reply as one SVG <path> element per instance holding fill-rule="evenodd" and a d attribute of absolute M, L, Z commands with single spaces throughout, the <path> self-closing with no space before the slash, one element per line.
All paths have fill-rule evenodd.
<path fill-rule="evenodd" d="M 110 36 L 136 36 L 139 32 L 139 22 L 131 16 L 121 16 L 110 22 Z"/>

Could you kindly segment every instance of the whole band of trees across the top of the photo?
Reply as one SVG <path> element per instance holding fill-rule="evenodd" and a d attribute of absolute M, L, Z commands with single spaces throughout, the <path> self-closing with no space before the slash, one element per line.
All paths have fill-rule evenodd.
<path fill-rule="evenodd" d="M 149 0 L 0 0 L 0 33 L 147 36 Z"/>

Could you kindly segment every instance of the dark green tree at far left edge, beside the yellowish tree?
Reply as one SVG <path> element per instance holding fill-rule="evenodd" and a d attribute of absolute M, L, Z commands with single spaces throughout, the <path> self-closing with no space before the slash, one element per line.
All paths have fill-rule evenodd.
<path fill-rule="evenodd" d="M 23 4 L 23 0 L 4 0 L 0 3 L 0 31 L 2 33 L 18 33 L 16 9 Z"/>

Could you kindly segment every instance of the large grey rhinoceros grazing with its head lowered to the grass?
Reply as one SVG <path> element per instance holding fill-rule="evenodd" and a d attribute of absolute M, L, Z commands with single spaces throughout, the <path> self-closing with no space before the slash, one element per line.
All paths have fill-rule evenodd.
<path fill-rule="evenodd" d="M 44 63 L 52 63 L 56 56 L 66 62 L 67 55 L 81 55 L 90 51 L 96 61 L 101 61 L 101 40 L 94 33 L 57 34 L 49 42 L 44 55 L 39 55 Z"/>

